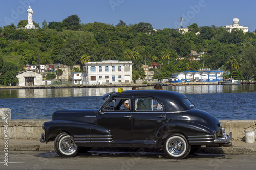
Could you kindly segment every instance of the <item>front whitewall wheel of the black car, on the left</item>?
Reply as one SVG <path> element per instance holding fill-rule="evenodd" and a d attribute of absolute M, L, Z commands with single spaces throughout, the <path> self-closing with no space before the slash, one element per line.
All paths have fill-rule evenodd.
<path fill-rule="evenodd" d="M 54 140 L 54 150 L 61 157 L 72 157 L 77 154 L 78 147 L 71 135 L 60 133 Z"/>

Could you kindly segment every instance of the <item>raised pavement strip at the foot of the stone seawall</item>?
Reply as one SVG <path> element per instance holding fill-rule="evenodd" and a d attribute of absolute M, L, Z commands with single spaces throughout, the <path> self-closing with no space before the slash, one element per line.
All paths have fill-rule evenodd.
<path fill-rule="evenodd" d="M 20 150 L 20 151 L 54 151 L 54 142 L 40 143 L 39 139 L 9 139 L 8 150 Z M 0 140 L 0 150 L 4 150 L 4 140 Z M 102 148 L 101 148 L 102 149 Z M 109 151 L 113 151 L 111 148 Z M 93 151 L 100 151 L 97 148 L 92 148 Z M 114 149 L 115 150 L 115 149 Z M 108 148 L 104 148 L 104 151 L 108 151 Z M 116 150 L 118 151 L 118 150 Z M 232 147 L 202 147 L 199 150 L 200 153 L 218 153 L 218 154 L 256 154 L 256 142 L 245 143 L 243 141 L 232 141 Z"/>

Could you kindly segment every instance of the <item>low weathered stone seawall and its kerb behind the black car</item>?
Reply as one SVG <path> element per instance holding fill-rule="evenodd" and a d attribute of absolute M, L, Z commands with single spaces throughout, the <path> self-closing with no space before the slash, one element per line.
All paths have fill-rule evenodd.
<path fill-rule="evenodd" d="M 40 143 L 45 119 L 8 120 L 8 150 L 54 151 L 53 142 Z M 232 147 L 202 147 L 199 153 L 256 154 L 256 142 L 245 143 L 245 130 L 256 129 L 256 120 L 220 120 L 226 133 L 232 131 Z M 0 150 L 4 150 L 4 120 L 0 120 Z M 95 151 L 97 149 L 92 149 Z M 107 149 L 108 151 L 108 149 Z"/>

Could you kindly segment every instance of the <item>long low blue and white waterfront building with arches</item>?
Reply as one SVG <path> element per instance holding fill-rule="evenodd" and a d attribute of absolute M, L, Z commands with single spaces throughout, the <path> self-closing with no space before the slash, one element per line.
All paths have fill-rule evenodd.
<path fill-rule="evenodd" d="M 220 82 L 223 80 L 222 74 L 221 70 L 183 71 L 172 74 L 172 83 Z"/>

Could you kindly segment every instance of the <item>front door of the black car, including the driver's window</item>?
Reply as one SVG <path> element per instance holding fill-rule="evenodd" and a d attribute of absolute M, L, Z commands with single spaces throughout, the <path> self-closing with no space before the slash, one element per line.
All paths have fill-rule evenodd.
<path fill-rule="evenodd" d="M 112 145 L 132 144 L 132 112 L 131 108 L 124 106 L 127 101 L 131 106 L 129 98 L 112 98 L 98 114 L 97 124 L 111 131 L 114 141 Z"/>

